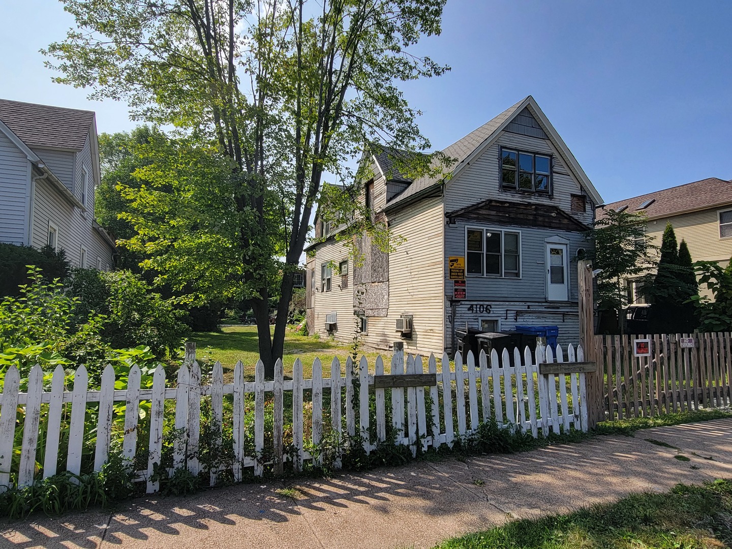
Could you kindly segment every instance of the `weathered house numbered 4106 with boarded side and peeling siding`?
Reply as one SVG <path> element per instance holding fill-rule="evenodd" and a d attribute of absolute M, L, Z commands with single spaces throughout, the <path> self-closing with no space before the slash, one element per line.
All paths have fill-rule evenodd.
<path fill-rule="evenodd" d="M 365 261 L 349 266 L 337 229 L 316 220 L 310 331 L 425 353 L 454 351 L 466 328 L 559 326 L 560 343 L 577 340 L 576 258 L 602 199 L 537 102 L 526 97 L 444 153 L 456 160 L 449 177 L 414 181 L 388 154 L 366 158 L 374 176 L 362 199 L 403 237 L 394 252 L 360 242 Z M 450 257 L 465 260 L 466 299 L 453 299 Z"/>

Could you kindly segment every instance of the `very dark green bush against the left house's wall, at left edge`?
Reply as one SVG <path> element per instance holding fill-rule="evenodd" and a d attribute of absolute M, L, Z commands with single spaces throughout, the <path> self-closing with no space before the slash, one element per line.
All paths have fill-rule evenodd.
<path fill-rule="evenodd" d="M 28 266 L 42 269 L 45 280 L 51 282 L 69 276 L 69 263 L 64 250 L 56 252 L 46 246 L 36 250 L 30 246 L 0 244 L 0 296 L 20 295 L 19 286 L 29 283 Z"/>

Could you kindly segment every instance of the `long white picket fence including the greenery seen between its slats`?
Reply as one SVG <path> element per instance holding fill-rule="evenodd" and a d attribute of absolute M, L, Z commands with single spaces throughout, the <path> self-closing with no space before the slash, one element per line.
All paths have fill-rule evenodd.
<path fill-rule="evenodd" d="M 312 379 L 303 379 L 300 359 L 285 379 L 278 361 L 273 381 L 265 380 L 261 361 L 254 381 L 245 381 L 239 362 L 229 384 L 220 363 L 202 374 L 198 362 L 189 362 L 173 380 L 157 367 L 147 388 L 139 367 L 121 388 L 108 366 L 96 390 L 89 390 L 84 366 L 69 380 L 70 390 L 60 366 L 45 378 L 36 365 L 23 380 L 12 367 L 0 400 L 0 487 L 22 488 L 57 471 L 100 471 L 111 452 L 121 452 L 122 467 L 154 493 L 165 475 L 181 469 L 214 485 L 324 460 L 337 468 L 354 448 L 369 453 L 395 444 L 417 455 L 452 447 L 492 420 L 534 437 L 587 430 L 582 361 L 582 349 L 575 356 L 572 346 L 566 359 L 561 347 L 556 356 L 542 346 L 535 356 L 528 348 L 523 355 L 504 351 L 501 359 L 496 351 L 481 352 L 477 365 L 471 353 L 466 362 L 457 354 L 454 365 L 446 354 L 438 365 L 435 356 L 405 359 L 399 352 L 389 373 L 381 356 L 373 374 L 365 358 L 349 358 L 345 376 L 337 358 L 329 373 L 315 359 Z"/>

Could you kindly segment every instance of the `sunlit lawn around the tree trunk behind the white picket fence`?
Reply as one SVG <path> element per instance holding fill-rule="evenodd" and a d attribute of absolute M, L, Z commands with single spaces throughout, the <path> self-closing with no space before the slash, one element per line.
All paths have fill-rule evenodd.
<path fill-rule="evenodd" d="M 274 330 L 274 327 L 272 330 Z M 244 364 L 246 377 L 253 378 L 254 366 L 259 358 L 256 326 L 224 326 L 221 332 L 194 332 L 190 340 L 196 343 L 196 356 L 199 360 L 221 362 L 224 368 L 224 381 L 231 381 L 234 366 L 239 360 Z M 378 353 L 362 352 L 359 353 L 359 356 L 361 354 L 365 354 L 369 362 L 369 368 L 373 373 Z M 292 376 L 292 366 L 298 357 L 302 360 L 305 379 L 312 377 L 315 357 L 323 362 L 324 376 L 328 376 L 330 373 L 333 356 L 338 357 L 341 363 L 341 371 L 345 373 L 346 359 L 350 355 L 351 348 L 348 346 L 338 345 L 328 339 L 315 339 L 315 337 L 299 335 L 294 330 L 288 329 L 283 356 L 285 376 Z M 381 355 L 384 358 L 385 370 L 388 372 L 392 355 L 389 351 L 384 351 Z"/>

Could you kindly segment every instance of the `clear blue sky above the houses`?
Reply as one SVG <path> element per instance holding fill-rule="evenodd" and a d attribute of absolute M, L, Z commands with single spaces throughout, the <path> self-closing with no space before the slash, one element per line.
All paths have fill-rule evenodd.
<path fill-rule="evenodd" d="M 73 23 L 59 2 L 0 1 L 0 21 L 0 97 L 135 126 L 124 104 L 51 82 L 38 50 Z M 416 53 L 452 71 L 403 89 L 440 149 L 533 95 L 608 202 L 732 179 L 731 22 L 727 0 L 448 0 Z"/>

